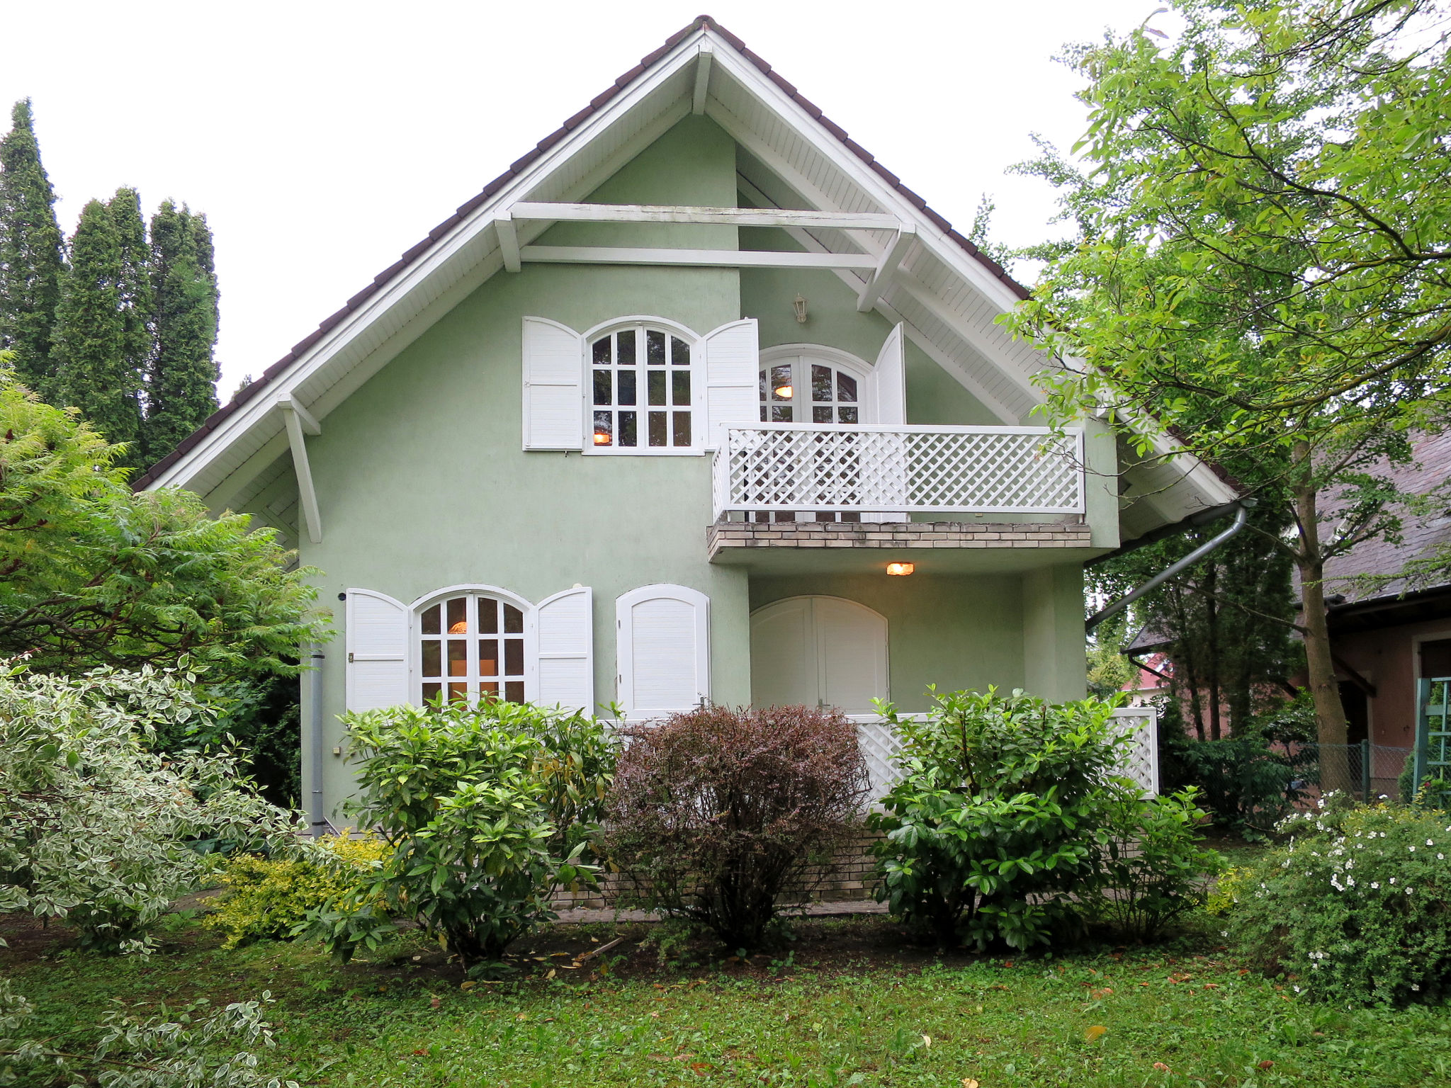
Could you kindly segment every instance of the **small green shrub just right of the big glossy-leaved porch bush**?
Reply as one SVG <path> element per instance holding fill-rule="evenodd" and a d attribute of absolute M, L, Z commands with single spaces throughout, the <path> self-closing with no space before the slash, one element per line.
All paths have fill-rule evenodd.
<path fill-rule="evenodd" d="M 1193 789 L 1140 798 L 1120 792 L 1107 802 L 1107 843 L 1085 904 L 1120 936 L 1152 940 L 1206 898 L 1206 878 L 1223 859 L 1200 844 L 1207 818 Z"/>

